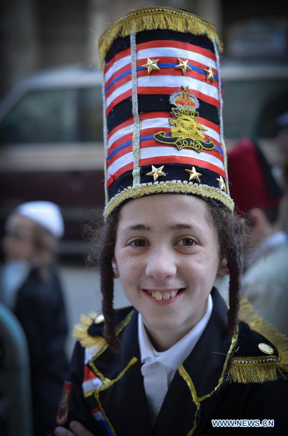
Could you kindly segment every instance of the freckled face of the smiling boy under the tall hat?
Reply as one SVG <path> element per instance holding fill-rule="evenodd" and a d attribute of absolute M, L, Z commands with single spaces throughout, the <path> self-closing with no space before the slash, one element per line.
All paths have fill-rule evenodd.
<path fill-rule="evenodd" d="M 154 345 L 179 341 L 204 315 L 217 272 L 226 273 L 206 202 L 160 194 L 124 204 L 113 268 Z"/>

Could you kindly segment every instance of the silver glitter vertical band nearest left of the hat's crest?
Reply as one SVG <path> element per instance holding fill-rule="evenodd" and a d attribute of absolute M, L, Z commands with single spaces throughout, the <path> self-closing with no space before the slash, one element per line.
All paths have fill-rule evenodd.
<path fill-rule="evenodd" d="M 136 52 L 136 34 L 130 33 L 131 48 L 131 78 L 132 78 L 132 114 L 134 118 L 133 130 L 133 186 L 140 185 L 140 120 L 138 114 L 138 95 L 137 95 L 137 52 Z"/>

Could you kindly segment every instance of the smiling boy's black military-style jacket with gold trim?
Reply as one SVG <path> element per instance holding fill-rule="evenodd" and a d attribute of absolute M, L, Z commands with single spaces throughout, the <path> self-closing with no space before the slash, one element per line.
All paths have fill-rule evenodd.
<path fill-rule="evenodd" d="M 239 334 L 231 340 L 227 334 L 227 307 L 216 289 L 212 290 L 212 298 L 210 321 L 175 373 L 153 428 L 140 371 L 137 312 L 132 308 L 117 311 L 121 356 L 100 342 L 94 345 L 95 355 L 84 365 L 85 348 L 76 344 L 67 423 L 78 420 L 93 435 L 251 435 L 255 431 L 259 435 L 264 431 L 265 435 L 287 434 L 287 339 L 244 304 L 241 316 L 249 318 L 253 329 L 240 322 Z M 96 343 L 102 335 L 103 324 L 97 324 L 96 319 L 87 327 L 78 326 L 78 337 L 90 346 L 91 339 Z M 261 335 L 259 329 L 266 334 Z M 263 343 L 260 348 L 265 351 L 258 346 Z M 81 385 L 85 387 L 87 379 L 91 389 L 83 388 L 84 396 Z M 231 421 L 233 428 L 217 428 L 212 425 L 216 419 L 244 421 Z M 247 420 L 258 420 L 254 421 L 256 427 L 247 427 Z M 274 420 L 263 422 L 274 426 L 263 430 L 262 420 Z M 241 423 L 244 427 L 239 427 Z"/>

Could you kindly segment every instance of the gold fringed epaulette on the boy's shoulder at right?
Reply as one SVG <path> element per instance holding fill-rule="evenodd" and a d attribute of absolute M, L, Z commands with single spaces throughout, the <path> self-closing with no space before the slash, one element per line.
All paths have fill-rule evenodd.
<path fill-rule="evenodd" d="M 288 338 L 260 318 L 246 298 L 241 300 L 239 319 L 272 343 L 278 356 L 268 345 L 271 353 L 267 356 L 232 357 L 228 379 L 238 383 L 264 383 L 276 380 L 279 373 L 287 378 L 282 371 L 288 372 Z"/>

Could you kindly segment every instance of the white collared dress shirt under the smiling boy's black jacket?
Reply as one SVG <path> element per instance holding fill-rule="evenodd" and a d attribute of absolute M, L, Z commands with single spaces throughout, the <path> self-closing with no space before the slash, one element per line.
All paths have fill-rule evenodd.
<path fill-rule="evenodd" d="M 189 356 L 202 335 L 212 312 L 212 297 L 209 295 L 207 310 L 198 323 L 168 350 L 158 352 L 153 348 L 144 327 L 141 314 L 138 314 L 138 342 L 141 354 L 141 373 L 144 377 L 144 389 L 154 425 L 168 387 L 179 365 Z"/>

